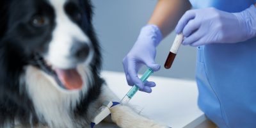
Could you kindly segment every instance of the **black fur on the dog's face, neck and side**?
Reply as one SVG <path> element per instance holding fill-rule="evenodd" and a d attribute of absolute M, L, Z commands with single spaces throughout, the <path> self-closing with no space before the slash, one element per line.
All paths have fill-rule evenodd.
<path fill-rule="evenodd" d="M 90 64 L 92 68 L 93 88 L 77 106 L 74 115 L 86 115 L 88 104 L 97 99 L 104 81 L 99 77 L 101 57 L 100 47 L 92 25 L 92 4 L 89 0 L 70 0 L 65 6 L 65 11 L 70 19 L 83 28 L 93 42 L 95 58 Z M 82 19 L 76 21 L 76 11 L 83 12 Z M 33 28 L 31 17 L 44 15 L 49 17 L 50 25 L 44 28 Z M 55 13 L 46 0 L 1 0 L 0 1 L 0 127 L 4 122 L 13 120 L 14 116 L 29 124 L 29 118 L 33 115 L 33 124 L 38 122 L 35 109 L 24 91 L 24 85 L 20 84 L 20 77 L 24 74 L 24 67 L 35 65 L 33 57 L 35 53 L 46 52 L 51 40 Z M 36 66 L 36 65 L 35 65 Z M 25 83 L 24 83 L 25 84 Z"/>

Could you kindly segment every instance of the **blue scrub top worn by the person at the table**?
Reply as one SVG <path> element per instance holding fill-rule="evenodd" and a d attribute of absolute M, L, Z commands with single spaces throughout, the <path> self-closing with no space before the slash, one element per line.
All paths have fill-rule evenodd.
<path fill-rule="evenodd" d="M 254 0 L 190 0 L 193 8 L 241 12 Z M 211 15 L 211 14 L 209 14 Z M 236 26 L 234 26 L 236 27 Z M 218 127 L 256 127 L 256 38 L 198 47 L 198 106 Z"/>

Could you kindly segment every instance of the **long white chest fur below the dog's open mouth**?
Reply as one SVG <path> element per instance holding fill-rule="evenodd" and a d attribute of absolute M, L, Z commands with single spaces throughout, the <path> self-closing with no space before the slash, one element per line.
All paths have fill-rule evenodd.
<path fill-rule="evenodd" d="M 60 91 L 63 89 L 54 88 L 58 86 L 57 83 L 42 70 L 32 66 L 26 68 L 26 90 L 40 121 L 46 122 L 49 127 L 74 127 L 70 112 L 81 100 L 81 96 L 87 93 L 90 82 L 88 79 L 93 81 L 90 70 L 87 72 L 88 75 L 85 72 L 80 74 L 84 78 L 82 90 L 63 92 Z"/>

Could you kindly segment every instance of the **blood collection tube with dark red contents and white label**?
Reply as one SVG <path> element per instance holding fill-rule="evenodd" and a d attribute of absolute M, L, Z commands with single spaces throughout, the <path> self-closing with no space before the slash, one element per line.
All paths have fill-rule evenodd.
<path fill-rule="evenodd" d="M 175 56 L 177 54 L 177 51 L 179 50 L 180 44 L 182 43 L 183 40 L 183 35 L 180 33 L 175 37 L 175 40 L 173 41 L 172 47 L 170 49 L 170 52 L 168 54 L 168 57 L 166 58 L 166 61 L 164 63 L 164 68 L 168 69 L 172 67 L 172 63 L 175 59 Z"/>

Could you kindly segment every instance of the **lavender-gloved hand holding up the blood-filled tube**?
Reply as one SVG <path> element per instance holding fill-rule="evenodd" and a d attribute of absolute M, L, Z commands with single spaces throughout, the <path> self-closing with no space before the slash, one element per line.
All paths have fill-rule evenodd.
<path fill-rule="evenodd" d="M 256 8 L 228 13 L 215 8 L 189 10 L 179 20 L 176 33 L 183 33 L 183 45 L 236 43 L 256 35 Z"/>

